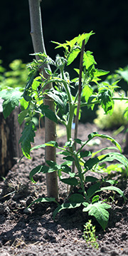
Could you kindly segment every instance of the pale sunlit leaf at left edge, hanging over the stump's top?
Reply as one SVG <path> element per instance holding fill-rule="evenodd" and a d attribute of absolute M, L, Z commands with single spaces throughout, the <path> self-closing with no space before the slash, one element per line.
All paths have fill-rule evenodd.
<path fill-rule="evenodd" d="M 1 97 L 4 99 L 2 107 L 5 119 L 11 114 L 12 111 L 14 111 L 16 106 L 19 105 L 19 99 L 21 98 L 22 94 L 23 93 L 21 93 L 21 91 L 18 91 L 18 89 L 16 88 L 13 88 L 9 91 L 1 91 Z"/>

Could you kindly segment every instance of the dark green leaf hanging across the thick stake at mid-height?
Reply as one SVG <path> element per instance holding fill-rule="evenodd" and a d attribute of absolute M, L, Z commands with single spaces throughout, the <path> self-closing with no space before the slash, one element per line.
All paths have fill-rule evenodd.
<path fill-rule="evenodd" d="M 41 112 L 43 113 L 43 115 L 46 116 L 46 118 L 50 119 L 55 123 L 58 123 L 58 118 L 55 116 L 55 113 L 51 111 L 49 106 L 41 104 L 39 108 L 41 108 Z"/>

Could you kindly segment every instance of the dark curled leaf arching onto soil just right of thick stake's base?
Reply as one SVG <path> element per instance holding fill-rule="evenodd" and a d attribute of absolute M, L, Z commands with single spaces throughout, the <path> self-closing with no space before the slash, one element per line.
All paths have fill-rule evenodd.
<path fill-rule="evenodd" d="M 77 208 L 80 207 L 80 205 L 81 203 L 63 203 L 62 205 L 59 205 L 58 208 L 56 208 L 53 212 L 53 220 L 55 220 L 55 216 L 61 210 Z"/>

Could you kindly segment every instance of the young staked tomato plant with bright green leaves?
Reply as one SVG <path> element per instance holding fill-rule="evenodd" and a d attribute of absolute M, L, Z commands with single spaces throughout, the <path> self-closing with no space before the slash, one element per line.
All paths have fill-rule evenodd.
<path fill-rule="evenodd" d="M 65 208 L 78 208 L 82 205 L 83 212 L 88 212 L 89 215 L 94 216 L 97 222 L 99 222 L 105 230 L 109 219 L 107 210 L 110 208 L 110 205 L 102 201 L 100 195 L 97 195 L 97 193 L 99 194 L 102 190 L 114 190 L 119 193 L 124 200 L 126 198 L 122 190 L 112 185 L 112 180 L 107 181 L 110 183 L 109 186 L 101 188 L 100 180 L 87 175 L 87 171 L 98 170 L 98 166 L 100 166 L 101 170 L 100 164 L 107 161 L 117 160 L 124 165 L 127 172 L 128 160 L 122 155 L 122 149 L 119 143 L 108 135 L 91 133 L 85 141 L 77 138 L 78 119 L 80 119 L 80 111 L 82 107 L 87 106 L 87 108 L 91 108 L 93 111 L 95 104 L 100 104 L 106 114 L 112 113 L 114 108 L 114 89 L 118 87 L 117 81 L 112 83 L 112 85 L 107 82 L 101 83 L 100 76 L 106 75 L 108 72 L 95 68 L 96 62 L 92 52 L 85 51 L 85 45 L 92 34 L 91 31 L 89 34 L 79 35 L 71 41 L 56 43 L 56 48 L 63 47 L 64 56 L 61 57 L 57 55 L 55 61 L 47 56 L 46 53 L 36 53 L 39 60 L 34 60 L 28 65 L 28 83 L 21 98 L 20 96 L 18 98 L 23 107 L 18 116 L 18 121 L 21 124 L 23 120 L 27 118 L 19 142 L 21 143 L 23 155 L 27 158 L 31 158 L 31 150 L 46 146 L 58 148 L 60 154 L 63 155 L 64 163 L 61 165 L 52 160 L 48 160 L 46 161 L 47 165 L 38 165 L 36 168 L 33 168 L 30 173 L 32 182 L 35 182 L 33 176 L 36 173 L 53 173 L 57 171 L 60 181 L 71 185 L 71 188 L 75 186 L 80 188 L 80 193 L 70 193 L 68 196 L 68 203 L 58 205 L 53 212 L 53 218 L 55 219 L 55 216 Z M 70 75 L 65 70 L 67 70 L 68 66 L 73 63 L 79 53 L 81 53 L 80 68 L 74 68 L 77 77 L 70 80 Z M 45 72 L 48 73 L 48 78 L 45 78 L 43 73 L 36 76 L 36 73 L 44 63 L 53 66 L 53 71 L 51 71 L 50 68 L 45 68 Z M 48 83 L 53 83 L 53 88 L 46 89 Z M 96 90 L 94 85 L 96 85 Z M 55 113 L 51 111 L 48 106 L 43 104 L 46 96 L 54 101 Z M 6 97 L 4 96 L 4 104 L 6 104 L 5 101 Z M 59 122 L 65 126 L 67 142 L 63 148 L 59 147 L 58 143 L 55 141 L 49 141 L 43 145 L 31 148 L 31 142 L 33 142 L 36 130 L 32 121 L 35 113 L 40 113 L 41 116 L 46 116 L 55 123 Z M 75 136 L 72 138 L 71 130 L 74 118 Z M 85 146 L 90 140 L 96 137 L 110 140 L 114 146 L 102 148 L 95 153 L 87 151 Z M 77 149 L 76 145 L 79 145 L 79 149 Z M 108 149 L 110 150 L 110 153 L 104 153 L 99 156 L 99 153 L 102 153 L 102 150 Z M 111 150 L 113 149 L 119 150 L 119 152 L 112 153 Z M 63 178 L 62 173 L 66 173 L 68 178 Z M 92 182 L 94 184 L 86 190 L 85 183 L 87 182 Z M 38 200 L 33 201 L 33 203 L 49 202 L 52 200 L 56 202 L 55 198 L 39 198 Z"/>

